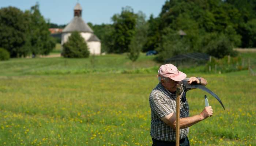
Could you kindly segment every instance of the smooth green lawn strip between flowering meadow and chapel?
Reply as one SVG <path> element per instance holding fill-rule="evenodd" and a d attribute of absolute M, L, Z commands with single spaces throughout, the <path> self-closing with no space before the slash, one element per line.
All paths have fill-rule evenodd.
<path fill-rule="evenodd" d="M 135 68 L 149 68 L 160 65 L 153 56 L 141 54 Z M 0 62 L 0 75 L 25 74 L 79 74 L 91 72 L 122 72 L 132 69 L 132 61 L 127 55 L 108 54 L 89 58 L 14 58 Z"/>

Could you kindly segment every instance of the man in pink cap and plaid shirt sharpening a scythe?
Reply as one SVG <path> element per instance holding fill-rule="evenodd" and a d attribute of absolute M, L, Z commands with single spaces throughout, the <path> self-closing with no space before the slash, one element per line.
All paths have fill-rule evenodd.
<path fill-rule="evenodd" d="M 150 93 L 149 102 L 151 108 L 151 130 L 152 146 L 175 146 L 176 129 L 176 85 L 187 77 L 185 73 L 178 71 L 172 64 L 162 65 L 158 70 L 159 84 Z M 186 78 L 189 84 L 207 85 L 202 77 Z M 181 87 L 180 102 L 180 146 L 189 146 L 189 127 L 201 120 L 212 116 L 211 106 L 195 116 L 189 117 L 189 106 L 186 99 L 187 88 Z"/>

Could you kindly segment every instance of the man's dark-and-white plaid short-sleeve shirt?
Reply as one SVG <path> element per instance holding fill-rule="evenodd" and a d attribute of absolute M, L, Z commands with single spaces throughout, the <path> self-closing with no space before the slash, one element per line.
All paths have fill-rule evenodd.
<path fill-rule="evenodd" d="M 189 117 L 189 106 L 186 99 L 188 90 L 181 85 L 180 118 Z M 149 103 L 151 108 L 151 137 L 159 141 L 175 141 L 176 130 L 163 122 L 161 118 L 176 112 L 176 93 L 167 91 L 159 82 L 150 93 Z M 188 132 L 189 128 L 180 129 L 180 139 L 187 137 Z"/>

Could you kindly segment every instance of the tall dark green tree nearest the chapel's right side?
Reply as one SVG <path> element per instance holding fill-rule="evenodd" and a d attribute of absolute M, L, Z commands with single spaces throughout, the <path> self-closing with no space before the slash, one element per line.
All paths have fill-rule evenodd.
<path fill-rule="evenodd" d="M 111 53 L 124 53 L 128 51 L 132 37 L 135 34 L 136 15 L 131 7 L 122 8 L 121 14 L 115 14 L 112 17 L 114 31 L 112 39 L 113 47 L 109 50 Z"/>

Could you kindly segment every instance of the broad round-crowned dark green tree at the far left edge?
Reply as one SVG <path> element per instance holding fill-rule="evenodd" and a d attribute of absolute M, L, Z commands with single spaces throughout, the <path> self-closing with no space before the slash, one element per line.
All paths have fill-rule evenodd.
<path fill-rule="evenodd" d="M 11 57 L 29 55 L 28 29 L 28 13 L 15 7 L 0 9 L 0 47 L 7 49 Z"/>

